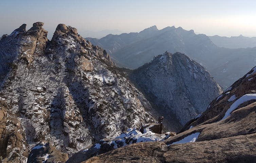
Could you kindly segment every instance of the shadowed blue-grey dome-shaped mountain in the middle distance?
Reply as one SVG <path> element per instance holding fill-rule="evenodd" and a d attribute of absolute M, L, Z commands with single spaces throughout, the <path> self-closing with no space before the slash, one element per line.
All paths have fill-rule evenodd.
<path fill-rule="evenodd" d="M 165 52 L 156 56 L 150 63 L 134 69 L 129 78 L 158 112 L 165 115 L 169 126 L 178 122 L 184 126 L 222 93 L 200 64 L 181 53 Z"/>

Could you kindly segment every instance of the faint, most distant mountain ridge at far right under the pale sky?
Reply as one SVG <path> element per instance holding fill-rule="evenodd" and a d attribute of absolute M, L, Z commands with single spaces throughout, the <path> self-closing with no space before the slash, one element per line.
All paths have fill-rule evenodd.
<path fill-rule="evenodd" d="M 256 47 L 256 37 L 245 37 L 242 35 L 232 37 L 221 37 L 218 35 L 208 36 L 215 45 L 225 48 L 247 48 Z"/>

